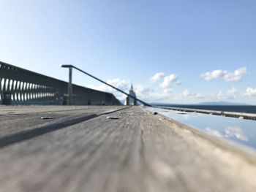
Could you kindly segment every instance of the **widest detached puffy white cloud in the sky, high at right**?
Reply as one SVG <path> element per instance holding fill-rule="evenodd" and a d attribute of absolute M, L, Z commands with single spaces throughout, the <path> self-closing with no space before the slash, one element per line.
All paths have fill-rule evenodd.
<path fill-rule="evenodd" d="M 214 80 L 219 77 L 222 77 L 223 80 L 225 80 L 226 82 L 231 82 L 231 81 L 241 80 L 244 74 L 246 74 L 246 67 L 241 67 L 239 69 L 236 69 L 235 72 L 227 72 L 227 71 L 218 69 L 212 72 L 206 72 L 204 74 L 201 74 L 201 77 L 203 77 L 203 79 L 206 81 L 210 81 L 210 80 Z"/>

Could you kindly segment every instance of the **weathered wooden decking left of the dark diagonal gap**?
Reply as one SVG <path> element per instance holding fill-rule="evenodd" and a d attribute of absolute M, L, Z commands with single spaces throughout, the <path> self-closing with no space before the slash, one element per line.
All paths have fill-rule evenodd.
<path fill-rule="evenodd" d="M 0 138 L 20 131 L 50 126 L 72 119 L 99 115 L 124 107 L 18 106 L 0 108 Z"/>

